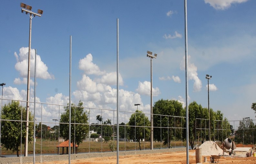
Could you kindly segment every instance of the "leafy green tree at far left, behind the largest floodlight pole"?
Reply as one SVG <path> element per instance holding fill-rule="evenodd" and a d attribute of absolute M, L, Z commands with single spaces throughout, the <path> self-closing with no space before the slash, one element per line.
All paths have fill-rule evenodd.
<path fill-rule="evenodd" d="M 21 118 L 22 116 L 22 118 Z M 10 149 L 13 152 L 16 151 L 17 157 L 19 157 L 20 142 L 25 144 L 26 141 L 26 123 L 23 122 L 21 126 L 21 120 L 26 120 L 26 107 L 22 107 L 18 101 L 12 101 L 3 106 L 2 120 L 16 120 L 16 121 L 2 121 L 2 135 L 1 145 L 7 150 Z M 29 121 L 34 120 L 34 117 L 29 112 Z M 33 141 L 33 123 L 28 123 L 28 142 Z"/>

